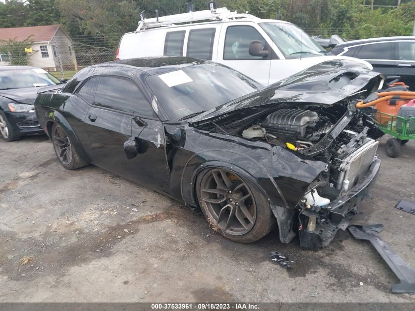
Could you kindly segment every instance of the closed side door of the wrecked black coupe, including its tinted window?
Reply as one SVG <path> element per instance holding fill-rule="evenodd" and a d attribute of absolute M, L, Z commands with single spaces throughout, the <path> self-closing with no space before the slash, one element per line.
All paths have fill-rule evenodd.
<path fill-rule="evenodd" d="M 134 81 L 101 76 L 85 124 L 90 141 L 85 152 L 92 164 L 168 193 L 164 127 Z M 124 151 L 130 137 L 139 145 L 133 159 Z"/>

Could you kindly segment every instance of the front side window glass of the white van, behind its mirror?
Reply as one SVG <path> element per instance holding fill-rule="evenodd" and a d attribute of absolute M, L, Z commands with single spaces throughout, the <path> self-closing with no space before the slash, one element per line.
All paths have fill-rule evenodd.
<path fill-rule="evenodd" d="M 249 54 L 249 44 L 258 40 L 265 47 L 265 39 L 252 26 L 230 26 L 226 29 L 223 59 L 263 59 Z"/>

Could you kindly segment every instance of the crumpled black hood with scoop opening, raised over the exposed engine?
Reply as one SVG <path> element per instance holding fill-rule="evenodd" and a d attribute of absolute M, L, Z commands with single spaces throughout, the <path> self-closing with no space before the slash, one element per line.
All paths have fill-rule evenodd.
<path fill-rule="evenodd" d="M 341 77 L 353 79 L 339 87 L 333 83 Z M 186 121 L 190 123 L 210 119 L 238 109 L 272 103 L 316 103 L 332 105 L 362 90 L 380 73 L 362 67 L 353 59 L 324 61 L 291 77 L 246 96 L 237 98 L 214 109 L 200 113 Z M 347 78 L 345 78 L 347 79 Z"/>

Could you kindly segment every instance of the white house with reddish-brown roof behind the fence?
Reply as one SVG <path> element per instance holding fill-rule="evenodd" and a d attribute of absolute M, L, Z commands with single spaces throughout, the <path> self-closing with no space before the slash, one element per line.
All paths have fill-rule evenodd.
<path fill-rule="evenodd" d="M 59 25 L 0 28 L 0 40 L 33 41 L 29 65 L 56 71 L 73 70 L 76 65 L 73 42 Z M 0 55 L 0 66 L 8 65 L 8 55 Z"/>

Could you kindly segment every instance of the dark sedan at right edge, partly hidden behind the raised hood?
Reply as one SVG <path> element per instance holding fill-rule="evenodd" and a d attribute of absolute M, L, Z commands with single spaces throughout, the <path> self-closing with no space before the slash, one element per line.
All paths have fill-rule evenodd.
<path fill-rule="evenodd" d="M 329 54 L 357 57 L 385 76 L 400 76 L 415 90 L 415 36 L 370 38 L 337 44 Z"/>

